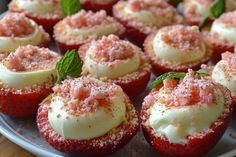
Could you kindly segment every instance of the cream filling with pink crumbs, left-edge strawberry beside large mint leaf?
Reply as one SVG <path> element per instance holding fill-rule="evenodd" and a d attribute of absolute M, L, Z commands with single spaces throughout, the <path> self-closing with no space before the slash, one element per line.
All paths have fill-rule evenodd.
<path fill-rule="evenodd" d="M 46 48 L 19 47 L 0 62 L 0 82 L 14 89 L 52 83 L 56 79 L 59 58 L 59 54 Z"/>

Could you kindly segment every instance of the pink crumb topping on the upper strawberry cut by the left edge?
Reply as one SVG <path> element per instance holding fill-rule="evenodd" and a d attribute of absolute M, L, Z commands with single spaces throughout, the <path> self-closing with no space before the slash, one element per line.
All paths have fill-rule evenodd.
<path fill-rule="evenodd" d="M 31 21 L 23 14 L 8 13 L 0 21 L 0 36 L 23 37 L 34 32 Z"/>

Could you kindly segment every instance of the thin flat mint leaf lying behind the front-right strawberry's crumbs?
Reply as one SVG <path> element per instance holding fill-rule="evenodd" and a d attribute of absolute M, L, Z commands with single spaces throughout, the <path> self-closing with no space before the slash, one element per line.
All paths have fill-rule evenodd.
<path fill-rule="evenodd" d="M 153 87 L 153 88 L 156 87 L 157 85 L 161 84 L 167 78 L 181 79 L 181 78 L 184 78 L 185 75 L 186 75 L 186 73 L 184 73 L 184 72 L 168 72 L 168 73 L 162 74 L 162 75 L 158 76 L 155 81 L 153 81 L 151 83 L 151 87 Z"/>

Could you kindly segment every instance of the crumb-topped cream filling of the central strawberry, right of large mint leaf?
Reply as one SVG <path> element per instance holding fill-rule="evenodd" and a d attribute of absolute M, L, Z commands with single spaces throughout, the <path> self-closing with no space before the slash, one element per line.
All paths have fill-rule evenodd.
<path fill-rule="evenodd" d="M 128 43 L 127 41 L 122 41 L 114 35 L 103 37 L 97 42 L 103 42 L 105 40 L 107 40 L 106 42 L 111 41 L 111 43 L 109 44 L 109 46 L 111 47 L 106 47 L 105 50 L 103 50 L 103 53 L 107 57 L 109 56 L 109 58 L 113 57 L 115 59 L 109 62 L 103 61 L 103 58 L 101 56 L 95 55 L 96 47 L 91 44 L 92 46 L 90 46 L 90 48 L 87 50 L 84 61 L 84 66 L 90 74 L 97 77 L 115 79 L 118 77 L 122 77 L 126 74 L 132 73 L 139 68 L 140 54 L 139 52 L 134 52 L 139 50 L 133 48 L 131 43 Z M 123 45 L 129 46 L 130 48 L 128 48 L 128 51 L 132 52 L 122 52 L 126 50 L 122 48 L 119 50 L 117 46 L 118 44 L 120 44 L 121 47 Z M 116 58 L 120 53 L 123 53 L 124 55 L 131 53 L 131 56 L 122 59 Z"/>

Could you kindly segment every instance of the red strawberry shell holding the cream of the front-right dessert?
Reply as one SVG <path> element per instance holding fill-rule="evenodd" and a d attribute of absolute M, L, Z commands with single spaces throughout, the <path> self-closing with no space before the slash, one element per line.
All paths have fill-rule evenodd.
<path fill-rule="evenodd" d="M 211 150 L 224 134 L 233 110 L 230 92 L 223 86 L 217 86 L 219 86 L 219 89 L 224 93 L 226 99 L 225 111 L 221 114 L 218 120 L 211 125 L 209 129 L 210 131 L 207 130 L 199 133 L 198 136 L 189 135 L 188 142 L 186 144 L 170 143 L 164 135 L 158 136 L 154 134 L 152 128 L 145 124 L 149 116 L 147 111 L 150 106 L 155 103 L 155 98 L 152 96 L 152 93 L 158 90 L 153 89 L 145 98 L 141 110 L 143 133 L 148 143 L 160 154 L 167 157 L 199 157 Z"/>

